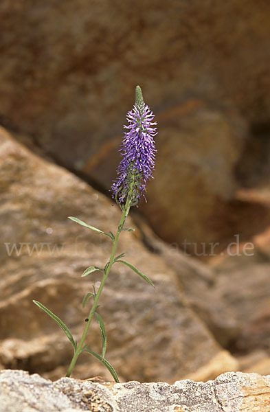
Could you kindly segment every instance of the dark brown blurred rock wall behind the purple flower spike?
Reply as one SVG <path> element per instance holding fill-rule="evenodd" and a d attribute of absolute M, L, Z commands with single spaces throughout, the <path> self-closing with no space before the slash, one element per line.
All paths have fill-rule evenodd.
<path fill-rule="evenodd" d="M 1 124 L 107 189 L 141 84 L 159 123 L 144 214 L 168 242 L 219 253 L 270 223 L 236 196 L 269 186 L 269 14 L 264 0 L 1 1 Z"/>

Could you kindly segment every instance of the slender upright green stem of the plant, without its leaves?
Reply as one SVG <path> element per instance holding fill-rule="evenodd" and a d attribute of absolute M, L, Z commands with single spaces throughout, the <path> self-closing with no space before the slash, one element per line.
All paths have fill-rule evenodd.
<path fill-rule="evenodd" d="M 95 310 L 98 306 L 98 299 L 100 299 L 100 295 L 102 293 L 102 289 L 103 289 L 104 284 L 106 282 L 106 278 L 108 277 L 109 272 L 111 270 L 111 266 L 113 264 L 113 258 L 115 257 L 115 251 L 116 251 L 116 248 L 117 248 L 117 241 L 118 241 L 119 235 L 122 231 L 122 227 L 124 226 L 124 222 L 126 220 L 126 217 L 128 216 L 129 209 L 131 208 L 132 187 L 133 187 L 133 185 L 131 185 L 131 190 L 128 193 L 128 196 L 127 196 L 127 199 L 126 199 L 126 204 L 124 205 L 124 208 L 122 209 L 122 216 L 120 218 L 117 233 L 115 235 L 115 240 L 113 242 L 113 249 L 111 251 L 111 257 L 110 257 L 110 260 L 109 260 L 109 264 L 106 267 L 106 271 L 104 271 L 102 281 L 100 283 L 100 287 L 98 288 L 98 293 L 95 295 L 95 299 L 93 301 L 93 306 L 92 306 L 92 308 L 89 312 L 88 321 L 87 321 L 87 324 L 85 325 L 85 330 L 82 334 L 82 339 L 80 339 L 80 343 L 79 343 L 76 351 L 74 352 L 74 356 L 73 356 L 73 358 L 71 360 L 71 363 L 69 365 L 69 369 L 67 370 L 67 375 L 66 375 L 67 378 L 69 378 L 69 376 L 71 375 L 71 372 L 74 369 L 74 366 L 76 364 L 77 358 L 80 355 L 80 353 L 82 352 L 82 347 L 83 347 L 83 344 L 85 343 L 85 338 L 87 336 L 87 332 L 89 330 L 89 326 L 90 326 L 91 320 L 93 318 L 93 314 L 95 313 Z"/>

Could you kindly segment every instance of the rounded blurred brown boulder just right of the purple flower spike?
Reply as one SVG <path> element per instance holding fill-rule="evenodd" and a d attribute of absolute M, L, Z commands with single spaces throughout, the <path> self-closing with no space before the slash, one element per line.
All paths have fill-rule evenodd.
<path fill-rule="evenodd" d="M 244 144 L 243 123 L 202 107 L 185 116 L 172 113 L 170 121 L 157 140 L 155 179 L 142 209 L 161 238 L 207 256 L 222 250 L 219 244 L 212 252 L 212 242 L 235 233 L 226 219 L 237 185 L 233 170 Z"/>

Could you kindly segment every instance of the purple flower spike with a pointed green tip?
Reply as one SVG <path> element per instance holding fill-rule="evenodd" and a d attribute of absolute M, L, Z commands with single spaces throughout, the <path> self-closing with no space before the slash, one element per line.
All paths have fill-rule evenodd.
<path fill-rule="evenodd" d="M 128 129 L 120 148 L 122 160 L 117 168 L 117 180 L 111 187 L 113 198 L 117 203 L 126 202 L 129 198 L 131 205 L 137 205 L 139 198 L 146 190 L 146 181 L 153 178 L 155 165 L 155 141 L 157 128 L 153 127 L 153 112 L 144 103 L 142 89 L 136 87 L 136 98 L 133 109 L 126 115 Z M 144 196 L 145 198 L 145 196 Z"/>

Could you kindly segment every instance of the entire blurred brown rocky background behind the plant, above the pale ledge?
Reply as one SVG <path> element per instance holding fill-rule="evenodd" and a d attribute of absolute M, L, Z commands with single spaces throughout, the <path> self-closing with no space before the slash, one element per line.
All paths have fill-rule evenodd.
<path fill-rule="evenodd" d="M 80 274 L 110 244 L 67 216 L 116 227 L 140 84 L 157 165 L 120 251 L 156 289 L 115 265 L 109 361 L 122 380 L 270 374 L 270 3 L 2 0 L 0 17 L 1 367 L 65 374 L 69 341 L 32 299 L 80 336 L 99 280 Z M 74 372 L 96 374 L 109 378 L 90 358 Z"/>

